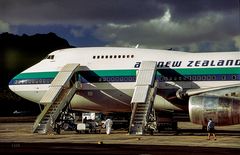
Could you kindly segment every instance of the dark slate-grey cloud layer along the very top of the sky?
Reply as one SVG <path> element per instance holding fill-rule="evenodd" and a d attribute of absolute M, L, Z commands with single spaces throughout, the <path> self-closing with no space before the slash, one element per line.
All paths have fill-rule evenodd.
<path fill-rule="evenodd" d="M 162 16 L 194 18 L 238 9 L 238 0 L 0 0 L 0 19 L 11 24 L 136 22 Z M 81 23 L 84 24 L 84 23 Z"/>

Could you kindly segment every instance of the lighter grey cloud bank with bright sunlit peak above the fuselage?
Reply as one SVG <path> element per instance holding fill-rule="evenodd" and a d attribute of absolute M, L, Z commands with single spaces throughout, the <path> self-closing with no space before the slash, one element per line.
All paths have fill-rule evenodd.
<path fill-rule="evenodd" d="M 174 17 L 176 10 L 171 9 L 173 5 L 168 4 L 168 8 L 163 16 L 151 20 L 101 26 L 96 35 L 113 40 L 113 45 L 118 46 L 140 43 L 148 48 L 181 47 L 192 51 L 228 51 L 240 47 L 238 7 L 228 7 L 225 12 L 216 11 L 219 7 L 196 9 L 194 14 L 178 19 Z"/>

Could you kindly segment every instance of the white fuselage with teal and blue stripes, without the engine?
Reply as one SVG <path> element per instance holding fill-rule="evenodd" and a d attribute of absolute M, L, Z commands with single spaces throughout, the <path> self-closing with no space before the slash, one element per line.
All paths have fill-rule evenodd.
<path fill-rule="evenodd" d="M 81 66 L 77 79 L 82 88 L 71 107 L 84 111 L 131 111 L 138 69 L 142 61 L 156 61 L 159 81 L 156 110 L 186 110 L 176 92 L 240 83 L 239 52 L 187 53 L 136 48 L 71 48 L 54 51 L 41 62 L 15 76 L 9 88 L 39 103 L 51 81 L 69 63 Z"/>

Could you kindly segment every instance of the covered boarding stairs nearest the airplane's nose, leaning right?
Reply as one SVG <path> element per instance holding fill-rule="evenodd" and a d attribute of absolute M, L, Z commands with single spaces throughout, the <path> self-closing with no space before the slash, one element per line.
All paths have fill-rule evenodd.
<path fill-rule="evenodd" d="M 66 110 L 77 89 L 80 89 L 75 74 L 79 68 L 79 64 L 67 64 L 51 82 L 49 90 L 40 100 L 45 107 L 35 120 L 34 133 L 46 134 L 56 127 L 55 121 Z"/>

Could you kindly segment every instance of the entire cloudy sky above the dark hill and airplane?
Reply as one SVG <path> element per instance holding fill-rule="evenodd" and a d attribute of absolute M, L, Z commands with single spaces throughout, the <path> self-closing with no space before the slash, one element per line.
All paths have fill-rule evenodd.
<path fill-rule="evenodd" d="M 240 50 L 240 0 L 0 0 L 0 33 L 77 47 Z"/>

